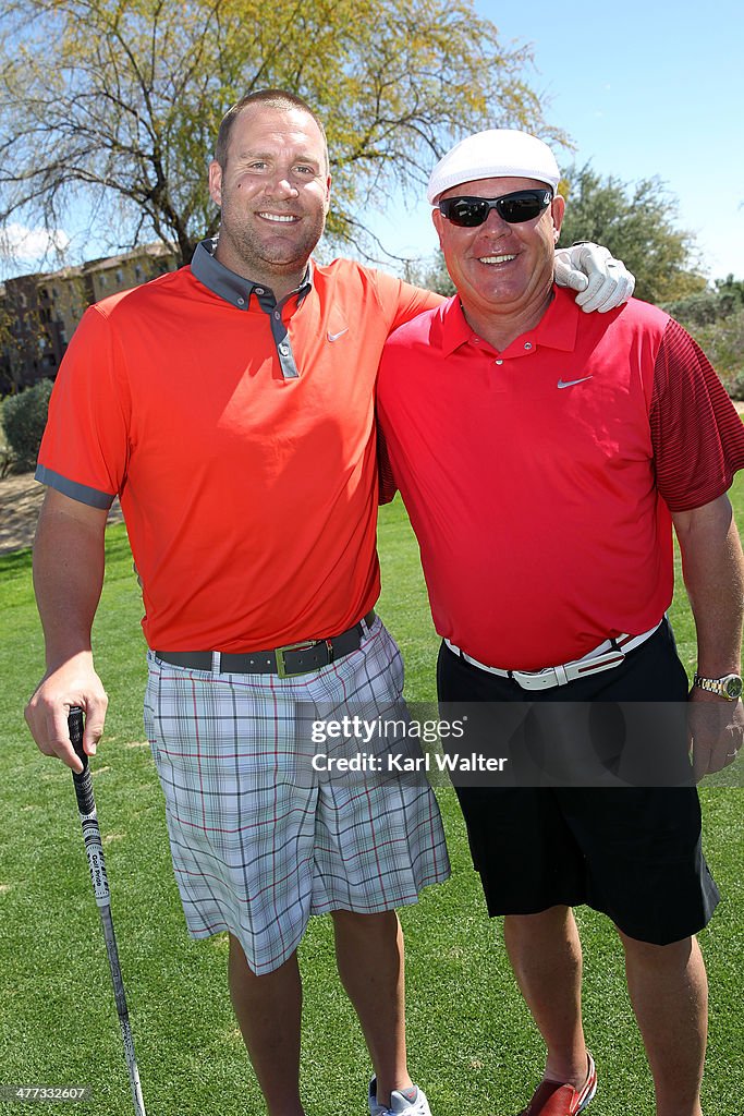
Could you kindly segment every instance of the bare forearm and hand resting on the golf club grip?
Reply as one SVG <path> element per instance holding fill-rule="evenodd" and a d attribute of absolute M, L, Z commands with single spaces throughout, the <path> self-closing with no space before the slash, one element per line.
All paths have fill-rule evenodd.
<path fill-rule="evenodd" d="M 86 712 L 84 748 L 93 756 L 108 702 L 90 648 L 104 584 L 106 514 L 47 489 L 33 545 L 33 589 L 47 670 L 26 708 L 26 721 L 40 751 L 74 771 L 83 764 L 69 740 L 70 706 Z"/>

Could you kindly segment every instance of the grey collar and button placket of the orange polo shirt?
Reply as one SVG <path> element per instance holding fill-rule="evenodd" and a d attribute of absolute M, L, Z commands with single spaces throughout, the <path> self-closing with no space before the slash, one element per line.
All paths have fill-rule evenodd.
<path fill-rule="evenodd" d="M 251 282 L 235 275 L 229 268 L 220 263 L 214 258 L 216 240 L 203 240 L 196 247 L 194 258 L 191 261 L 191 270 L 201 283 L 204 283 L 212 294 L 219 295 L 231 306 L 239 310 L 248 310 L 251 295 L 255 295 L 257 301 L 264 314 L 269 315 L 271 325 L 271 336 L 277 348 L 277 356 L 284 379 L 297 379 L 299 371 L 292 353 L 292 344 L 289 339 L 287 323 L 282 320 L 281 311 L 290 298 L 297 298 L 297 305 L 310 292 L 312 286 L 312 262 L 308 262 L 308 270 L 305 279 L 297 288 L 290 291 L 281 302 L 274 298 L 270 287 L 262 287 L 260 283 Z"/>

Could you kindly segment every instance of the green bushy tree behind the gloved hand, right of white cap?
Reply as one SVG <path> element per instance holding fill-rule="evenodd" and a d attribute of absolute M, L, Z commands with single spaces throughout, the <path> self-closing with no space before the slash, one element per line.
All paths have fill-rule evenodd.
<path fill-rule="evenodd" d="M 560 189 L 567 200 L 560 244 L 605 244 L 636 276 L 638 298 L 667 302 L 705 288 L 694 237 L 675 228 L 677 203 L 660 180 L 631 185 L 584 166 L 564 171 Z"/>

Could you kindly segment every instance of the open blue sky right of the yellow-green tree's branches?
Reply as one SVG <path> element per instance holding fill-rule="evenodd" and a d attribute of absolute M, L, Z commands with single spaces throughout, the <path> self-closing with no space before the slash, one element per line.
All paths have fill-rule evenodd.
<path fill-rule="evenodd" d="M 475 0 L 504 46 L 532 44 L 532 87 L 578 166 L 624 182 L 658 176 L 679 202 L 712 279 L 744 278 L 744 15 L 741 0 L 566 4 Z M 570 162 L 570 155 L 559 162 Z M 396 253 L 435 247 L 429 208 L 375 222 Z"/>

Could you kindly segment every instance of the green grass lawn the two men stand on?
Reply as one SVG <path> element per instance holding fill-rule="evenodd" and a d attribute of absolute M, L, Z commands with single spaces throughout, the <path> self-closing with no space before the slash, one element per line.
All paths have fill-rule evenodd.
<path fill-rule="evenodd" d="M 744 485 L 734 492 L 744 521 Z M 410 699 L 434 698 L 437 638 L 415 542 L 398 503 L 384 509 L 380 612 L 407 663 Z M 160 788 L 143 744 L 141 602 L 124 528 L 107 532 L 107 577 L 95 631 L 110 696 L 95 787 L 119 952 L 143 1090 L 151 1116 L 259 1116 L 258 1088 L 229 1006 L 224 940 L 189 941 L 170 867 Z M 0 1084 L 87 1084 L 91 1101 L 67 1109 L 128 1116 L 132 1105 L 69 773 L 42 758 L 22 708 L 42 671 L 30 556 L 0 558 Z M 682 596 L 675 627 L 686 665 L 694 629 Z M 452 791 L 442 790 L 453 879 L 403 912 L 408 943 L 410 1065 L 437 1114 L 467 1106 L 511 1116 L 539 1075 L 541 1043 L 485 915 Z M 737 1112 L 744 1032 L 742 792 L 703 792 L 706 846 L 725 899 L 700 935 L 712 984 L 705 1112 Z M 607 921 L 578 912 L 586 947 L 586 1021 L 600 1067 L 596 1116 L 651 1116 L 644 1054 L 628 1006 L 619 946 Z M 309 1116 L 364 1116 L 368 1061 L 335 977 L 327 918 L 300 954 L 305 984 L 303 1090 Z M 380 1006 L 380 1010 L 384 1007 Z M 0 1113 L 18 1105 L 0 1101 Z"/>

